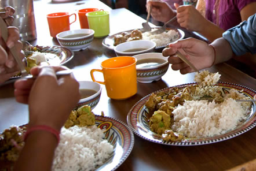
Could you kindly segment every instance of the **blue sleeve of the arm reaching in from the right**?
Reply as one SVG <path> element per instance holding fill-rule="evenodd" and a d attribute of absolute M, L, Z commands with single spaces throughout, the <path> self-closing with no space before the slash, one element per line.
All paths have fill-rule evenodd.
<path fill-rule="evenodd" d="M 250 16 L 236 27 L 223 33 L 223 38 L 231 44 L 233 53 L 243 55 L 256 53 L 256 14 Z"/>

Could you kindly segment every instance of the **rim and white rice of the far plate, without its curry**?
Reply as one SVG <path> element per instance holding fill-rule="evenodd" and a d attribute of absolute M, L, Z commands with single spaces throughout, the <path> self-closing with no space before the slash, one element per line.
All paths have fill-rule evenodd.
<path fill-rule="evenodd" d="M 152 31 L 154 31 L 156 28 L 153 28 Z M 137 29 L 140 30 L 140 29 Z M 102 42 L 103 46 L 107 47 L 107 49 L 114 50 L 115 47 L 115 36 L 122 35 L 124 33 L 130 34 L 134 29 L 119 32 L 117 34 L 109 35 L 107 38 L 105 38 Z M 152 40 L 156 43 L 155 49 L 161 49 L 166 47 L 167 44 L 170 44 L 172 42 L 175 42 L 177 40 L 181 40 L 184 38 L 185 33 L 181 29 L 175 29 L 175 28 L 166 28 L 166 31 L 162 34 L 156 34 L 152 35 L 151 32 L 142 32 L 142 40 Z"/>

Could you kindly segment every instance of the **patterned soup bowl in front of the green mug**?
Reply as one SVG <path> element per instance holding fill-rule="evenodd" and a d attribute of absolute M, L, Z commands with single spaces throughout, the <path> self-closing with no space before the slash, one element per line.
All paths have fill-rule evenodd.
<path fill-rule="evenodd" d="M 93 29 L 75 29 L 60 32 L 56 35 L 58 43 L 73 51 L 85 50 L 93 42 Z"/>

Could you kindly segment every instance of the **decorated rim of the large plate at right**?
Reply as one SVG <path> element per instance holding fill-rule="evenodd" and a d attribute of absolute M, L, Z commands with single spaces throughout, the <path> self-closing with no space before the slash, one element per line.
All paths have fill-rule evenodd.
<path fill-rule="evenodd" d="M 158 90 L 158 91 L 155 91 L 155 92 L 159 92 L 159 91 L 163 91 L 163 90 L 169 90 L 170 88 L 173 88 L 173 87 L 185 87 L 186 85 L 192 85 L 192 84 L 197 84 L 197 83 L 187 83 L 187 84 L 174 85 L 174 86 L 171 86 L 171 87 L 162 88 L 161 90 Z M 250 91 L 252 93 L 252 96 L 254 96 L 256 94 L 255 90 L 253 90 L 252 88 L 248 88 L 244 85 L 239 85 L 239 84 L 234 84 L 234 83 L 225 83 L 225 82 L 218 82 L 215 85 L 219 85 L 219 86 L 222 86 L 222 87 L 228 87 L 228 88 L 240 87 L 242 90 L 244 88 L 246 88 L 247 91 Z M 248 92 L 247 92 L 247 94 L 248 94 Z M 196 141 L 195 141 L 195 139 L 193 139 L 195 142 L 189 142 L 189 139 L 188 139 L 188 141 L 185 141 L 185 142 L 164 142 L 164 141 L 160 142 L 160 141 L 157 141 L 157 140 L 149 139 L 148 137 L 145 137 L 145 136 L 141 135 L 141 133 L 137 131 L 137 129 L 140 129 L 140 128 L 137 128 L 137 129 L 134 128 L 133 124 L 131 124 L 131 115 L 135 113 L 135 112 L 133 112 L 134 108 L 137 107 L 137 105 L 140 102 L 144 101 L 146 98 L 149 98 L 150 95 L 151 94 L 148 94 L 148 95 L 144 96 L 144 98 L 140 99 L 140 101 L 138 101 L 135 105 L 133 105 L 133 107 L 131 107 L 131 109 L 130 109 L 128 115 L 127 115 L 127 124 L 133 130 L 133 132 L 137 136 L 141 137 L 142 139 L 148 140 L 149 142 L 164 144 L 164 145 L 169 145 L 169 146 L 198 146 L 198 145 L 203 145 L 203 144 L 211 144 L 211 143 L 222 142 L 224 140 L 231 139 L 232 137 L 239 136 L 242 133 L 245 133 L 245 132 L 249 131 L 250 129 L 253 129 L 256 126 L 256 111 L 255 111 L 256 106 L 255 106 L 255 103 L 253 103 L 253 107 L 251 109 L 254 110 L 254 113 L 252 114 L 252 116 L 250 118 L 250 121 L 247 121 L 243 125 L 240 125 L 239 128 L 235 128 L 235 129 L 233 129 L 231 131 L 228 131 L 228 132 L 226 132 L 222 135 L 217 135 L 217 136 L 213 136 L 213 137 L 209 137 L 209 138 L 202 137 L 202 138 L 198 138 Z M 144 105 L 145 104 L 141 105 L 140 109 L 142 109 L 142 107 Z M 136 118 L 137 118 L 137 116 L 138 116 L 138 113 L 136 113 Z M 136 119 L 136 122 L 138 122 L 137 119 Z M 246 127 L 246 128 L 244 128 L 244 127 Z M 148 131 L 152 132 L 150 130 L 148 130 Z M 152 132 L 152 137 L 153 136 L 156 136 L 156 137 L 158 136 L 159 137 L 159 135 Z M 200 140 L 200 139 L 206 139 L 206 140 Z"/>

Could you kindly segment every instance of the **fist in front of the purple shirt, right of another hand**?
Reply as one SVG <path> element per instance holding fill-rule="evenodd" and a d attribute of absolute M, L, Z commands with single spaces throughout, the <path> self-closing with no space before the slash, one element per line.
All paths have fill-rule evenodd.
<path fill-rule="evenodd" d="M 204 25 L 207 24 L 206 18 L 193 5 L 178 5 L 174 3 L 177 9 L 177 21 L 181 27 L 189 31 L 200 32 Z"/>

